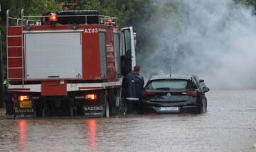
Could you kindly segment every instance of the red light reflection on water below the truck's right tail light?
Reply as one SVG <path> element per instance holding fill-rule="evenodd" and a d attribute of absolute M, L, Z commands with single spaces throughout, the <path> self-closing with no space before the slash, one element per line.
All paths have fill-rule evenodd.
<path fill-rule="evenodd" d="M 92 150 L 95 150 L 96 144 L 96 134 L 97 134 L 97 120 L 96 119 L 89 119 L 87 122 L 87 129 L 90 133 L 90 147 Z"/>

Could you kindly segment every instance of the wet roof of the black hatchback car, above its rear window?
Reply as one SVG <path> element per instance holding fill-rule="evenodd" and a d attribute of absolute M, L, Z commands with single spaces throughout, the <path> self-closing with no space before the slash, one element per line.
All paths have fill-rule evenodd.
<path fill-rule="evenodd" d="M 193 74 L 171 74 L 170 75 L 153 75 L 149 80 L 158 80 L 158 79 L 184 79 L 184 80 L 191 80 Z"/>

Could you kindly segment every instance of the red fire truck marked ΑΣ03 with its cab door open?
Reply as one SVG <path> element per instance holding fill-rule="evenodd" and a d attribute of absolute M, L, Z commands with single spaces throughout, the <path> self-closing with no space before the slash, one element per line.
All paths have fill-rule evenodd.
<path fill-rule="evenodd" d="M 136 64 L 136 33 L 99 11 L 6 13 L 8 90 L 14 117 L 109 117 Z M 38 19 L 35 19 L 38 18 Z"/>

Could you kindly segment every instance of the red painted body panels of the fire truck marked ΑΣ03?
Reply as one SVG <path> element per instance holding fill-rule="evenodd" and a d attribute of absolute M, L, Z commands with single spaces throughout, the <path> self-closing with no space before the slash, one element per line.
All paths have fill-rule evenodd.
<path fill-rule="evenodd" d="M 85 29 L 97 29 L 97 31 L 105 30 L 105 44 L 107 54 L 107 77 L 102 78 L 100 74 L 100 45 L 99 45 L 99 32 L 97 33 L 85 33 Z M 77 80 L 77 81 L 90 81 L 90 80 L 103 80 L 107 82 L 115 81 L 117 78 L 115 71 L 115 60 L 114 60 L 114 34 L 113 28 L 119 30 L 118 27 L 111 25 L 78 25 L 77 30 L 83 30 L 82 32 L 82 78 L 56 78 L 56 79 L 36 79 L 36 80 L 24 80 L 26 81 L 41 81 L 42 95 L 67 95 L 66 81 Z M 23 27 L 23 31 L 26 28 Z M 33 30 L 73 30 L 71 25 L 34 25 Z M 10 35 L 21 35 L 20 27 L 8 27 L 8 36 Z M 24 35 L 23 35 L 24 44 Z M 8 46 L 21 46 L 21 37 L 8 37 Z M 25 52 L 23 52 L 25 56 Z M 16 58 L 14 58 L 16 57 Z M 22 77 L 25 78 L 26 71 L 22 71 L 22 52 L 21 47 L 8 48 L 8 74 L 10 81 L 22 81 Z M 25 59 L 23 59 L 23 65 L 25 66 Z M 68 72 L 68 71 L 67 71 Z M 64 80 L 65 84 L 57 84 L 60 80 Z M 53 85 L 55 84 L 55 85 Z M 64 89 L 65 88 L 65 89 Z"/>

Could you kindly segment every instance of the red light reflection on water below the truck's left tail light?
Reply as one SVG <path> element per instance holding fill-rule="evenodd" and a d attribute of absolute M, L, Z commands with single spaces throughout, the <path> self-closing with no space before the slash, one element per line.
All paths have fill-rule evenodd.
<path fill-rule="evenodd" d="M 26 137 L 27 137 L 27 123 L 28 121 L 25 119 L 18 121 L 18 129 L 19 129 L 19 146 L 21 150 L 23 150 L 26 146 Z"/>

